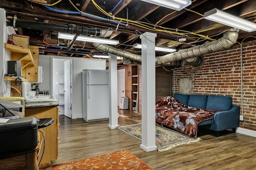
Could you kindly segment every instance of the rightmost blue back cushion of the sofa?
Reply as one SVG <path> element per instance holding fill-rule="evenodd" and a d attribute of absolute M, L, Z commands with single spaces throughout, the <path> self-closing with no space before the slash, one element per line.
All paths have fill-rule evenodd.
<path fill-rule="evenodd" d="M 210 95 L 207 99 L 206 109 L 209 110 L 230 110 L 232 106 L 232 97 Z"/>

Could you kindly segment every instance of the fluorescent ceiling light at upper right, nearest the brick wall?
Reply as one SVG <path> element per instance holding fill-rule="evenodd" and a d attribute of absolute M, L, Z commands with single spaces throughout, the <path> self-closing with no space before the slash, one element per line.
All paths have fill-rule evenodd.
<path fill-rule="evenodd" d="M 216 8 L 205 12 L 204 18 L 248 32 L 256 31 L 256 23 L 242 19 L 238 16 L 234 16 Z"/>

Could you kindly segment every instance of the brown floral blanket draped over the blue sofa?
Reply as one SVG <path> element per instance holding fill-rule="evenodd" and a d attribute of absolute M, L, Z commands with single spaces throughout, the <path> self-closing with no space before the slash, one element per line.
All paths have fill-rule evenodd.
<path fill-rule="evenodd" d="M 190 137 L 196 137 L 198 123 L 212 119 L 216 112 L 186 106 L 171 96 L 156 100 L 156 122 Z"/>

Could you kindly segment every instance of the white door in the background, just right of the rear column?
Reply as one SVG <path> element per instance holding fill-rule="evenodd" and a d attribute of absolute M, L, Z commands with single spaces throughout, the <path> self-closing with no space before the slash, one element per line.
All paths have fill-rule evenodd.
<path fill-rule="evenodd" d="M 120 97 L 125 96 L 125 69 L 117 70 L 118 78 L 118 106 Z"/>

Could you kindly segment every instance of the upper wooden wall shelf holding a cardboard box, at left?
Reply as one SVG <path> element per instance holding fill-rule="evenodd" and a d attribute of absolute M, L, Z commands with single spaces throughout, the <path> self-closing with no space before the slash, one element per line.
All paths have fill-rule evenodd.
<path fill-rule="evenodd" d="M 4 47 L 12 54 L 12 60 L 22 62 L 22 69 L 29 65 L 35 66 L 30 49 L 7 43 L 4 43 Z"/>

